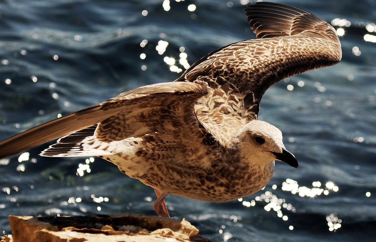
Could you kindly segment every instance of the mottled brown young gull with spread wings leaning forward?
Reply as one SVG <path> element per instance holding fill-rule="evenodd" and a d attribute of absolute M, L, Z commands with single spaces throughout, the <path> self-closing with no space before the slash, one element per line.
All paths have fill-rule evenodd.
<path fill-rule="evenodd" d="M 155 189 L 209 202 L 262 189 L 274 161 L 298 168 L 282 132 L 258 120 L 262 95 L 280 80 L 337 64 L 336 30 L 302 9 L 256 2 L 244 9 L 256 39 L 202 57 L 174 82 L 142 86 L 0 142 L 0 159 L 58 139 L 41 156 L 98 156 Z M 62 137 L 62 138 L 60 138 Z"/>

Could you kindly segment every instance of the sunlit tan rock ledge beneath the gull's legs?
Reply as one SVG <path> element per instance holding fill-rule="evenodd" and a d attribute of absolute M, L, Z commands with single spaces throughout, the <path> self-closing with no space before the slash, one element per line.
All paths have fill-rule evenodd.
<path fill-rule="evenodd" d="M 199 232 L 185 219 L 131 213 L 60 217 L 9 216 L 9 221 L 12 242 L 188 242 L 190 236 Z M 5 242 L 9 242 L 7 238 L 4 239 Z"/>

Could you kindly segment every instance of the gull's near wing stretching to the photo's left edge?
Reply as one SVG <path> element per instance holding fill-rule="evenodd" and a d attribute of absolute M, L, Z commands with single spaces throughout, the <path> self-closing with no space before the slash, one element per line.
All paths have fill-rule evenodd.
<path fill-rule="evenodd" d="M 0 159 L 99 123 L 97 138 L 115 141 L 156 132 L 164 119 L 198 132 L 193 106 L 208 90 L 195 83 L 158 83 L 133 89 L 103 103 L 41 124 L 0 142 Z M 171 126 L 171 122 L 168 124 Z M 165 130 L 173 127 L 164 127 Z"/>

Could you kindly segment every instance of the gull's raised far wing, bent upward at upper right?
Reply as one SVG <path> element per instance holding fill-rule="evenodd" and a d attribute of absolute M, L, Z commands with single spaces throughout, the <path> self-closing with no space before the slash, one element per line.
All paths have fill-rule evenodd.
<path fill-rule="evenodd" d="M 228 83 L 238 89 L 238 98 L 249 111 L 244 113 L 254 118 L 262 95 L 270 86 L 341 60 L 341 44 L 335 29 L 315 15 L 268 2 L 256 2 L 244 10 L 257 39 L 209 53 L 176 81 Z"/>

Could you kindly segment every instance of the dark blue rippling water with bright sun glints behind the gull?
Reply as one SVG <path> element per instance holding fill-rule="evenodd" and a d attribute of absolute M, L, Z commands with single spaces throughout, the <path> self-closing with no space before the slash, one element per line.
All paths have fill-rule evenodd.
<path fill-rule="evenodd" d="M 167 2 L 1 1 L 0 140 L 120 92 L 173 81 L 186 62 L 255 38 L 242 10 L 247 1 Z M 242 201 L 169 195 L 167 207 L 214 241 L 374 241 L 376 3 L 278 2 L 344 30 L 340 64 L 290 77 L 261 102 L 259 119 L 282 130 L 299 169 L 277 163 L 265 189 Z M 8 215 L 155 215 L 153 189 L 115 165 L 39 157 L 46 147 L 0 160 L 0 234 L 10 233 Z"/>

